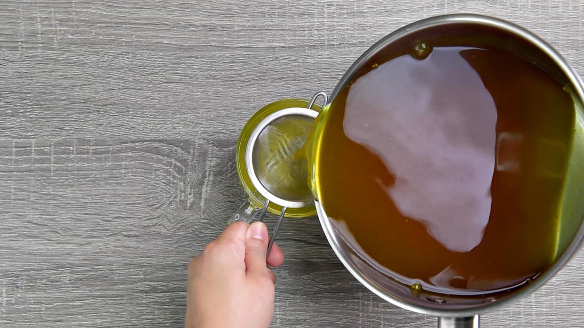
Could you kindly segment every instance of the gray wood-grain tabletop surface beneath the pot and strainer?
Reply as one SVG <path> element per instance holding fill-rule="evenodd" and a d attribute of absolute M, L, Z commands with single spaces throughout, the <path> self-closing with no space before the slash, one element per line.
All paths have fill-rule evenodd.
<path fill-rule="evenodd" d="M 0 326 L 181 326 L 190 257 L 245 199 L 249 116 L 331 92 L 374 41 L 454 12 L 519 23 L 584 72 L 580 0 L 2 0 Z M 274 327 L 435 325 L 361 287 L 317 219 L 279 243 Z M 584 326 L 583 266 L 484 326 Z"/>

